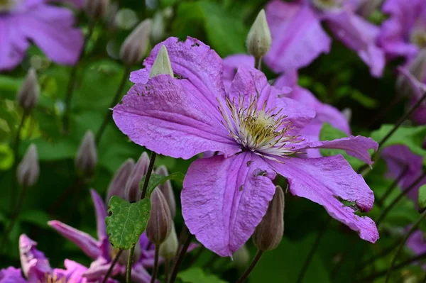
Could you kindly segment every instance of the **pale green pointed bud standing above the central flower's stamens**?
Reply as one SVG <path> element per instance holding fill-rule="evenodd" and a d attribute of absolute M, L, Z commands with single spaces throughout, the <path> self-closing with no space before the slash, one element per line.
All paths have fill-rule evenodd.
<path fill-rule="evenodd" d="M 271 31 L 266 21 L 265 10 L 261 10 L 247 35 L 247 50 L 257 60 L 268 53 L 271 48 Z"/>

